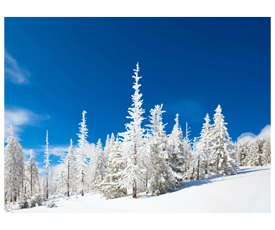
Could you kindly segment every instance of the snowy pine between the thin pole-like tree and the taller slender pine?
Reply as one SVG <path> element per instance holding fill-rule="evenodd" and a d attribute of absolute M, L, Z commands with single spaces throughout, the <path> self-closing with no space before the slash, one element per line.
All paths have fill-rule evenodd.
<path fill-rule="evenodd" d="M 63 153 L 61 157 L 61 164 L 63 164 L 63 169 L 65 171 L 65 183 L 66 183 L 66 190 L 67 196 L 70 196 L 70 191 L 72 191 L 73 183 L 77 180 L 76 174 L 76 159 L 75 154 L 73 152 L 73 140 L 71 139 L 71 145 L 68 147 L 68 153 Z"/>

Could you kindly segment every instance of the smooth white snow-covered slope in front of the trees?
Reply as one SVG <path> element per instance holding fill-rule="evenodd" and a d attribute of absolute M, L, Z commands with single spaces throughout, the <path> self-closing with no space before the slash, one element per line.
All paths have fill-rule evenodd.
<path fill-rule="evenodd" d="M 54 198 L 56 207 L 32 207 L 13 212 L 271 212 L 271 167 L 241 167 L 237 175 L 186 181 L 172 193 L 114 200 L 98 192 L 69 200 Z"/>

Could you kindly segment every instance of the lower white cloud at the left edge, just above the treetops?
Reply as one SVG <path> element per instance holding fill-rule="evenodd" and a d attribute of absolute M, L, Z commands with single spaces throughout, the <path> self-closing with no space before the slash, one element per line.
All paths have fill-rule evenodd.
<path fill-rule="evenodd" d="M 4 111 L 5 116 L 5 134 L 4 138 L 9 137 L 10 132 L 8 128 L 13 126 L 13 132 L 16 135 L 20 135 L 23 132 L 24 126 L 39 126 L 39 122 L 45 119 L 49 119 L 49 115 L 35 114 L 34 112 L 24 108 L 6 108 Z"/>

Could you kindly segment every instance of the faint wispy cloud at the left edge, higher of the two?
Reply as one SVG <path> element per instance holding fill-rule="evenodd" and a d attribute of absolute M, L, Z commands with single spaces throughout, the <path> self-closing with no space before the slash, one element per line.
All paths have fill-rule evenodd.
<path fill-rule="evenodd" d="M 21 67 L 18 61 L 5 50 L 5 78 L 16 84 L 28 84 L 30 72 Z"/>

